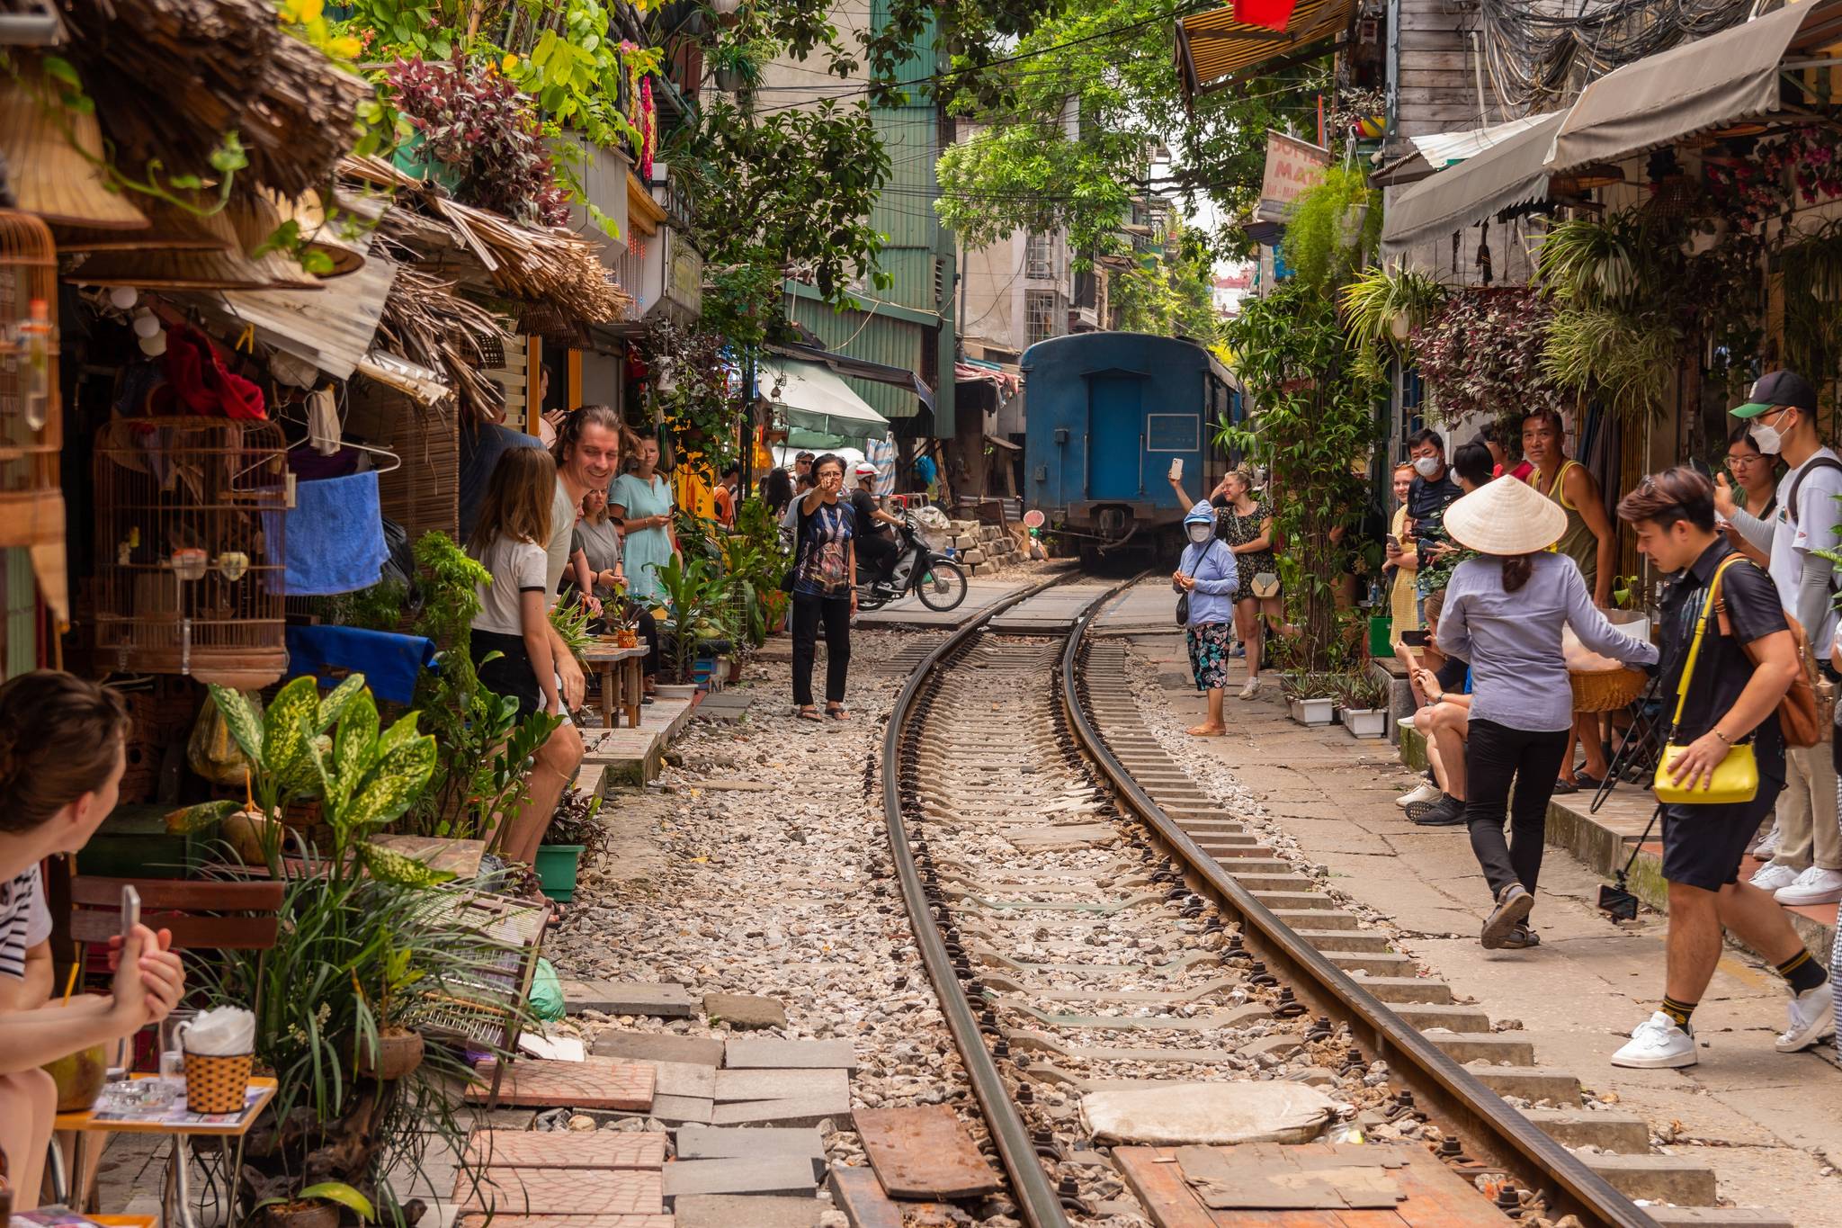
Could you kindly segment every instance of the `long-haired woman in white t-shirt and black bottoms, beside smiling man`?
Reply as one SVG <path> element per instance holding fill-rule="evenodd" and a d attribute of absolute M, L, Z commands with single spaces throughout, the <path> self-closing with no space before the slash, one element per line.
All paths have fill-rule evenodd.
<path fill-rule="evenodd" d="M 468 554 L 492 573 L 492 580 L 479 585 L 473 668 L 488 690 L 518 700 L 519 718 L 536 711 L 564 712 L 551 652 L 545 549 L 554 495 L 556 464 L 549 453 L 536 447 L 507 451 L 492 471 L 468 541 Z M 492 654 L 499 655 L 486 661 Z"/>

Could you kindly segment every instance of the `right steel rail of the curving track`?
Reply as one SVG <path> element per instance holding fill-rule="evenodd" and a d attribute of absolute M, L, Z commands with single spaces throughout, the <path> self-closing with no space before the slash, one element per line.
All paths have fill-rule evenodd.
<path fill-rule="evenodd" d="M 1175 852 L 1190 875 L 1199 878 L 1218 904 L 1238 915 L 1242 943 L 1267 968 L 1291 983 L 1293 992 L 1321 1014 L 1348 1024 L 1350 1035 L 1367 1040 L 1376 1059 L 1387 1059 L 1389 1073 L 1400 1075 L 1420 1108 L 1442 1127 L 1455 1129 L 1475 1147 L 1474 1154 L 1499 1165 L 1527 1189 L 1549 1191 L 1549 1217 L 1579 1215 L 1588 1224 L 1606 1228 L 1658 1228 L 1658 1222 L 1603 1176 L 1586 1167 L 1527 1118 L 1451 1060 L 1433 1042 L 1411 1027 L 1382 1000 L 1335 967 L 1291 926 L 1273 915 L 1232 875 L 1159 806 L 1131 771 L 1113 755 L 1105 738 L 1087 718 L 1079 700 L 1079 657 L 1096 613 L 1089 606 L 1076 617 L 1061 655 L 1061 692 L 1068 725 L 1083 749 L 1100 764 L 1120 799 L 1135 810 L 1153 834 Z M 1450 1132 L 1450 1130 L 1448 1130 Z M 1553 1186 L 1553 1187 L 1551 1187 Z M 1558 1202 L 1558 1206 L 1555 1206 Z"/>

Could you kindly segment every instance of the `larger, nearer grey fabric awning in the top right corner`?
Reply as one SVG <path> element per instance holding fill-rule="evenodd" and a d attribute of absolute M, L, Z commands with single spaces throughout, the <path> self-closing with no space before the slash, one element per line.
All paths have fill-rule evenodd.
<path fill-rule="evenodd" d="M 1785 57 L 1836 41 L 1842 41 L 1842 0 L 1803 0 L 1645 55 L 1586 87 L 1545 160 L 1556 171 L 1617 162 L 1778 110 Z"/>

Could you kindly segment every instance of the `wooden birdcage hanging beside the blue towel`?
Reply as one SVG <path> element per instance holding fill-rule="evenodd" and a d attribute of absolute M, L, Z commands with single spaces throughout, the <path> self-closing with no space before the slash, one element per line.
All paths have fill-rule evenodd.
<path fill-rule="evenodd" d="M 273 422 L 116 418 L 96 440 L 96 650 L 256 689 L 286 665 L 287 442 Z"/>

